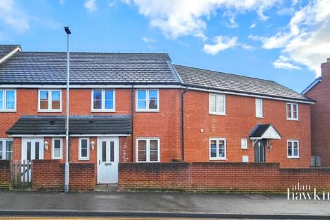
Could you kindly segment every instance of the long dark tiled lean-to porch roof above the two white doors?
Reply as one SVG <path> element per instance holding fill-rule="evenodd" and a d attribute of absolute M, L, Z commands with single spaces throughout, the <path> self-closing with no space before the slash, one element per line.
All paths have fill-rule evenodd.
<path fill-rule="evenodd" d="M 129 134 L 131 115 L 70 116 L 70 134 Z M 10 135 L 65 135 L 65 116 L 22 116 L 6 133 Z"/>

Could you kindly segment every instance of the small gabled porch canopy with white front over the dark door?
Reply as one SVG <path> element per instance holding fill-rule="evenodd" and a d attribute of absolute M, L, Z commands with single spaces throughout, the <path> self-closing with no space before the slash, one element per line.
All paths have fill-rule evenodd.
<path fill-rule="evenodd" d="M 250 132 L 250 140 L 275 139 L 281 140 L 281 134 L 272 124 L 258 124 Z"/>

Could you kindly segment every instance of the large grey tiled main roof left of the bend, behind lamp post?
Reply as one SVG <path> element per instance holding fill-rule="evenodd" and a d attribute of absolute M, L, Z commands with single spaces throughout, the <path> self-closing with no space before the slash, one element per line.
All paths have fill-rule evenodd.
<path fill-rule="evenodd" d="M 0 65 L 2 84 L 65 84 L 67 54 L 17 52 Z M 70 54 L 71 84 L 179 84 L 164 53 Z"/>

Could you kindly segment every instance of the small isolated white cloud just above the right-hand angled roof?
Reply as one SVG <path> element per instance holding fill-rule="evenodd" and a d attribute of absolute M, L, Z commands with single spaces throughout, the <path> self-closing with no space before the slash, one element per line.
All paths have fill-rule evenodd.
<path fill-rule="evenodd" d="M 227 50 L 229 48 L 235 47 L 237 45 L 237 37 L 234 36 L 230 38 L 229 36 L 216 36 L 213 39 L 214 44 L 205 44 L 203 47 L 206 54 L 215 55 L 218 52 Z"/>

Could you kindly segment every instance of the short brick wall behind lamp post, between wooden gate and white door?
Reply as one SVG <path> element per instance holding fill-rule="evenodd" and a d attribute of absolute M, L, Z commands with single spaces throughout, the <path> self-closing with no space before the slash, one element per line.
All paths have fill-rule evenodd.
<path fill-rule="evenodd" d="M 65 164 L 58 159 L 32 161 L 32 190 L 64 190 Z M 69 164 L 69 189 L 72 191 L 94 190 L 96 176 L 94 164 Z"/>

